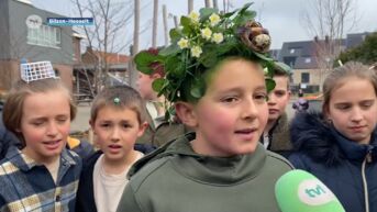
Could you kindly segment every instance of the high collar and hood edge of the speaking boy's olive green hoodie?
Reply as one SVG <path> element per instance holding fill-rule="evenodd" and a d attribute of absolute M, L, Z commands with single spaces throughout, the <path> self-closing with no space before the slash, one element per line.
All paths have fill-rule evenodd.
<path fill-rule="evenodd" d="M 165 144 L 157 150 L 136 161 L 129 171 L 129 176 L 134 175 L 143 166 L 153 160 L 178 155 L 182 157 L 176 157 L 171 161 L 175 168 L 185 176 L 206 183 L 229 185 L 257 176 L 267 157 L 267 153 L 262 144 L 258 144 L 252 154 L 231 157 L 200 155 L 193 152 L 190 145 L 192 140 L 195 140 L 195 133 L 189 133 Z"/>

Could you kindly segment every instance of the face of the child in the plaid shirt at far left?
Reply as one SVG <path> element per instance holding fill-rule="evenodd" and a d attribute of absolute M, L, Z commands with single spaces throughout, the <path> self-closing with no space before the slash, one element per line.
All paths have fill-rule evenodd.
<path fill-rule="evenodd" d="M 19 129 L 26 144 L 22 152 L 42 164 L 54 161 L 66 146 L 69 126 L 66 92 L 52 90 L 30 94 L 23 103 Z"/>

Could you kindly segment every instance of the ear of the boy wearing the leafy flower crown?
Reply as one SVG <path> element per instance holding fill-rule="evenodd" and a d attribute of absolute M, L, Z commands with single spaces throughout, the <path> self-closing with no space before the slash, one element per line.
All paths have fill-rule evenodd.
<path fill-rule="evenodd" d="M 176 102 L 175 108 L 179 120 L 184 124 L 191 127 L 196 127 L 198 125 L 198 119 L 193 111 L 193 104 L 188 102 Z"/>

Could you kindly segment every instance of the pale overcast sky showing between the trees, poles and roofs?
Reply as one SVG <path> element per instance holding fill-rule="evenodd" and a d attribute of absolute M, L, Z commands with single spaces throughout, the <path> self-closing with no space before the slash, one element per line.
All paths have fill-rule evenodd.
<path fill-rule="evenodd" d="M 70 0 L 31 0 L 37 8 L 53 11 L 68 16 L 75 15 L 75 7 Z M 114 0 L 114 2 L 133 2 L 133 0 Z M 220 9 L 222 9 L 222 0 L 218 0 Z M 281 48 L 284 42 L 290 41 L 307 41 L 313 36 L 310 35 L 302 24 L 302 13 L 304 10 L 310 10 L 310 2 L 313 0 L 255 0 L 255 4 L 251 8 L 257 11 L 257 21 L 260 21 L 264 27 L 268 29 L 273 37 L 273 48 Z M 247 0 L 231 0 L 233 9 L 242 7 Z M 356 11 L 359 21 L 357 25 L 346 33 L 359 33 L 377 31 L 377 0 L 356 0 Z M 168 13 L 173 15 L 187 14 L 187 0 L 159 0 L 159 4 L 166 4 Z M 143 8 L 141 12 L 141 26 L 151 26 L 153 13 L 153 0 L 141 0 Z M 195 0 L 195 10 L 198 11 L 204 7 L 204 0 Z M 162 8 L 162 7 L 160 7 Z M 311 10 L 312 11 L 312 10 Z M 159 12 L 158 27 L 158 45 L 164 45 L 162 9 Z M 174 20 L 168 19 L 169 29 L 174 26 Z M 133 26 L 126 26 L 133 29 Z M 152 26 L 151 26 L 152 29 Z M 152 44 L 152 30 L 143 33 L 140 48 L 146 48 Z M 126 37 L 132 40 L 132 31 L 127 30 Z"/>

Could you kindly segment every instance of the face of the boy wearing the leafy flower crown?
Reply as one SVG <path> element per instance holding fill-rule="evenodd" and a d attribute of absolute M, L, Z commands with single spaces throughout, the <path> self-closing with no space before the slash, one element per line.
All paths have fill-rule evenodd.
<path fill-rule="evenodd" d="M 267 123 L 266 97 L 260 67 L 246 60 L 225 62 L 193 107 L 193 149 L 212 156 L 254 152 Z"/>

